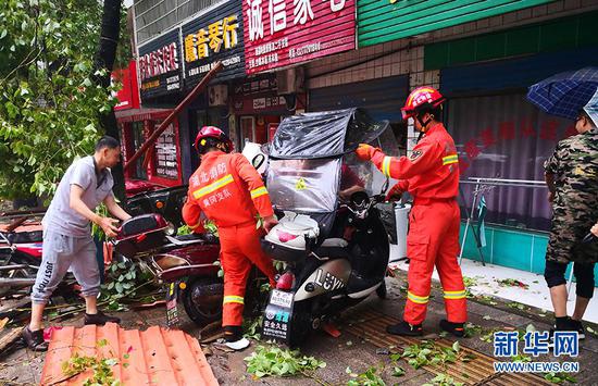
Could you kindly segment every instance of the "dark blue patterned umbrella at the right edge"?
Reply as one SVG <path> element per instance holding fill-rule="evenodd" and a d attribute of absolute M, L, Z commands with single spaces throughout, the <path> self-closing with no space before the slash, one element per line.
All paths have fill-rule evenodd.
<path fill-rule="evenodd" d="M 597 89 L 598 67 L 584 67 L 536 83 L 527 99 L 548 114 L 574 120 Z"/>

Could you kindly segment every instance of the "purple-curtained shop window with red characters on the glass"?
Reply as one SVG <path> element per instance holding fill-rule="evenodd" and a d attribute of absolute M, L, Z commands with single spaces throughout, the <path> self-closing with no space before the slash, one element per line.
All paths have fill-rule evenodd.
<path fill-rule="evenodd" d="M 475 177 L 506 180 L 483 194 L 486 221 L 549 229 L 547 189 L 513 187 L 507 179 L 543 182 L 544 162 L 557 142 L 573 133 L 572 123 L 541 113 L 523 94 L 451 98 L 447 112 L 447 129 L 459 152 L 461 180 L 471 182 Z M 472 204 L 474 188 L 461 184 L 468 207 Z"/>

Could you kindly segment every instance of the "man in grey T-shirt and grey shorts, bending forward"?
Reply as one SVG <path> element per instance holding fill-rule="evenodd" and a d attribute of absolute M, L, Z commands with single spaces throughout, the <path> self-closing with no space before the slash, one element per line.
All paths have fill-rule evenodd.
<path fill-rule="evenodd" d="M 36 351 L 45 351 L 41 319 L 46 303 L 68 267 L 82 286 L 85 298 L 85 324 L 120 323 L 119 317 L 98 311 L 100 270 L 96 260 L 96 245 L 90 222 L 98 224 L 108 237 L 114 237 L 117 220 L 102 217 L 94 211 L 103 202 L 108 211 L 120 220 L 130 217 L 114 200 L 114 180 L 110 167 L 121 160 L 121 147 L 112 137 L 102 137 L 96 144 L 94 155 L 82 158 L 66 170 L 42 220 L 43 251 L 41 264 L 32 288 L 32 321 L 23 329 L 23 339 Z"/>

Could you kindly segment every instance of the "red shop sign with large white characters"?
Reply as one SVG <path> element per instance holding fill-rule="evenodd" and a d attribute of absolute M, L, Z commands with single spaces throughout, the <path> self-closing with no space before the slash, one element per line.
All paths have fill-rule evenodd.
<path fill-rule="evenodd" d="M 356 0 L 244 0 L 248 74 L 352 50 Z"/>

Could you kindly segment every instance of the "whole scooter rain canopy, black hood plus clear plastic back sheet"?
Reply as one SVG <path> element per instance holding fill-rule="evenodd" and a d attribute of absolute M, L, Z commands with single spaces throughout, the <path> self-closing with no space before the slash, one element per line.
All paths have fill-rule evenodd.
<path fill-rule="evenodd" d="M 346 177 L 345 158 L 359 144 L 372 142 L 388 128 L 362 109 L 303 113 L 286 117 L 267 148 L 266 186 L 272 203 L 282 211 L 308 214 L 328 234 Z"/>

